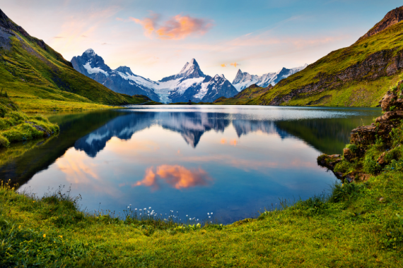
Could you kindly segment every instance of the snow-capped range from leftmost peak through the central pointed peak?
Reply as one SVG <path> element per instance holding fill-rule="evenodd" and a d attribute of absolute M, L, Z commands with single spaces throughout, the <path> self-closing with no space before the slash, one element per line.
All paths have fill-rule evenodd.
<path fill-rule="evenodd" d="M 180 73 L 156 82 L 132 73 L 129 67 L 112 70 L 93 49 L 71 59 L 74 68 L 115 92 L 146 95 L 157 102 L 214 102 L 219 97 L 233 97 L 238 91 L 224 77 L 204 75 L 195 59 Z"/>

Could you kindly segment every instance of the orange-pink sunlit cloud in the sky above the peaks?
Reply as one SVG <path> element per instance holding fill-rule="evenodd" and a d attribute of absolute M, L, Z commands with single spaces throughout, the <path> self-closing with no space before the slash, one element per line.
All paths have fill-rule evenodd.
<path fill-rule="evenodd" d="M 146 37 L 156 36 L 158 39 L 184 39 L 189 35 L 204 35 L 213 26 L 204 18 L 192 18 L 190 16 L 177 15 L 159 25 L 160 15 L 151 13 L 150 18 L 130 17 L 129 20 L 140 24 L 144 28 Z"/>

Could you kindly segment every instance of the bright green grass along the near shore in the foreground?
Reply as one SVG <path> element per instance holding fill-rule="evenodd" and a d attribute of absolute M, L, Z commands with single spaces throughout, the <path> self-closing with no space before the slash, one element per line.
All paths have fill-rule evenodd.
<path fill-rule="evenodd" d="M 281 210 L 223 226 L 139 219 L 132 209 L 123 219 L 82 212 L 79 197 L 62 188 L 37 197 L 2 184 L 0 266 L 401 267 L 403 159 L 395 150 L 402 134 L 403 124 L 390 141 L 368 147 L 363 163 L 390 154 L 368 181 L 336 184 L 329 194 L 293 204 L 283 200 Z"/>

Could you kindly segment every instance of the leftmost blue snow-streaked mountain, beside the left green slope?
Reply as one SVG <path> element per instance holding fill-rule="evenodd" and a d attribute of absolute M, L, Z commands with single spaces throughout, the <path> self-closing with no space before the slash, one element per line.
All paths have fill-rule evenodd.
<path fill-rule="evenodd" d="M 93 49 L 87 49 L 81 56 L 74 56 L 71 63 L 76 71 L 105 85 L 110 90 L 127 95 L 146 95 L 156 102 L 160 101 L 153 91 L 155 82 L 135 75 L 126 66 L 112 70 L 105 64 L 102 57 L 95 54 Z"/>

